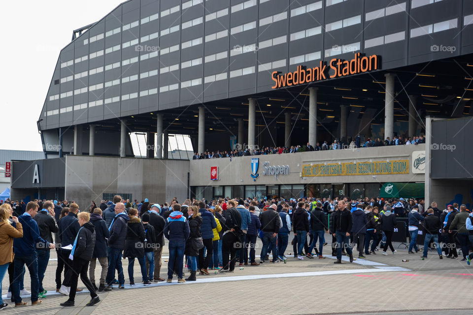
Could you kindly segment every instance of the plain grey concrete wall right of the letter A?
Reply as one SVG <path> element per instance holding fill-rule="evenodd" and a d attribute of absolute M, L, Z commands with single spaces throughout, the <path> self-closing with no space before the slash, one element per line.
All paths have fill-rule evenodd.
<path fill-rule="evenodd" d="M 133 199 L 169 202 L 187 198 L 187 160 L 148 158 L 66 157 L 66 199 L 85 209 L 103 193 L 131 193 Z"/>

